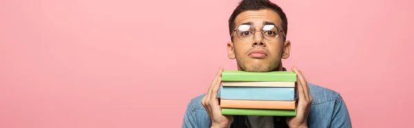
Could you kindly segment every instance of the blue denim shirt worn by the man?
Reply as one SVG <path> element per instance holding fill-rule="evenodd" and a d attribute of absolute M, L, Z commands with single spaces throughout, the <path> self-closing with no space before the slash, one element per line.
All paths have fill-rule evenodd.
<path fill-rule="evenodd" d="M 352 127 L 348 109 L 339 93 L 311 83 L 308 83 L 308 86 L 313 98 L 308 116 L 309 128 Z M 201 105 L 201 99 L 204 95 L 201 94 L 190 100 L 184 114 L 182 128 L 208 128 L 211 126 L 206 109 Z M 237 122 L 233 121 L 234 123 Z"/>

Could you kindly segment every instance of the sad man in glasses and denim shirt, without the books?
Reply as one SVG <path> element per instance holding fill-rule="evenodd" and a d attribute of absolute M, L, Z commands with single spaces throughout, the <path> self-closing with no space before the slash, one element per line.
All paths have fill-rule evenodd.
<path fill-rule="evenodd" d="M 238 70 L 246 72 L 286 71 L 282 58 L 290 52 L 286 40 L 287 19 L 279 6 L 267 0 L 244 0 L 229 21 L 231 42 L 227 43 L 228 58 L 237 60 Z M 188 103 L 182 127 L 352 127 L 348 109 L 337 92 L 313 85 L 304 74 L 297 74 L 297 116 L 223 116 L 217 92 L 221 85 L 219 72 L 206 94 Z"/>

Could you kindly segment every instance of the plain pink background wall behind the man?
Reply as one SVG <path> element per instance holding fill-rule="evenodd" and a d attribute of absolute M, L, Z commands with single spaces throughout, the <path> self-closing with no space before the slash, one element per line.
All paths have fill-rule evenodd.
<path fill-rule="evenodd" d="M 412 127 L 410 1 L 275 1 L 309 82 L 353 127 Z M 0 127 L 181 127 L 226 56 L 238 0 L 0 1 Z"/>

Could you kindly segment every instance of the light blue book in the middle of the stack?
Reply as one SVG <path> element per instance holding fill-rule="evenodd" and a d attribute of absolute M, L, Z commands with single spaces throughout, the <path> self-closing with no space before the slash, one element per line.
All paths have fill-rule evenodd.
<path fill-rule="evenodd" d="M 229 100 L 296 100 L 295 87 L 221 86 L 217 98 Z"/>

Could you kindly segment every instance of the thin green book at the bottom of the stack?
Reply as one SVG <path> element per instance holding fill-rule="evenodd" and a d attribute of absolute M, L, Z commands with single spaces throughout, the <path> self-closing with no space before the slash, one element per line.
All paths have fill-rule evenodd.
<path fill-rule="evenodd" d="M 296 116 L 296 109 L 235 109 L 221 108 L 222 115 Z"/>

